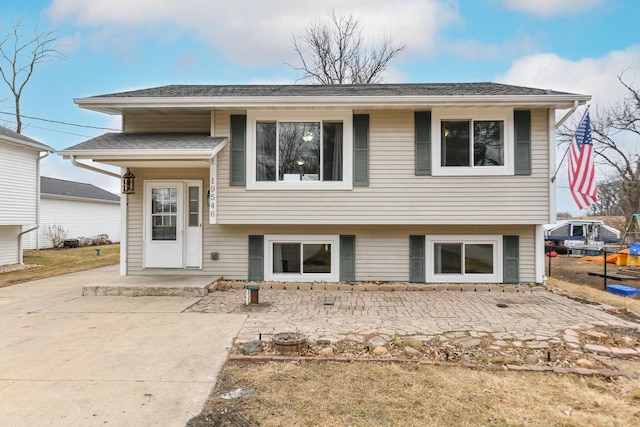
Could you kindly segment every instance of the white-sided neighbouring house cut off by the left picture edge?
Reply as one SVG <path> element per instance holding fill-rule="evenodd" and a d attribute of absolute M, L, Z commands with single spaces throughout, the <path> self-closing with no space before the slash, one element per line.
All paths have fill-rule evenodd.
<path fill-rule="evenodd" d="M 40 160 L 52 152 L 0 126 L 0 265 L 22 264 L 22 238 L 38 229 Z"/>

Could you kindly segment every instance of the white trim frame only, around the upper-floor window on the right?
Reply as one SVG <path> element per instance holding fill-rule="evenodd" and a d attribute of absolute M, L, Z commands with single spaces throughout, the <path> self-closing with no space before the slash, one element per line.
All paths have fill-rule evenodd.
<path fill-rule="evenodd" d="M 465 176 L 465 175 L 513 175 L 515 173 L 513 129 L 513 108 L 486 109 L 433 109 L 431 112 L 432 175 L 433 176 Z M 502 120 L 504 122 L 504 166 L 442 166 L 442 135 L 440 133 L 443 120 Z"/>

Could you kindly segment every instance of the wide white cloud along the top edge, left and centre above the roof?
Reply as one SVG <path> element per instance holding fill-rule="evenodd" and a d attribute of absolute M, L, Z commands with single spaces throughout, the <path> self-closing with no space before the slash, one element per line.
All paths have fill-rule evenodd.
<path fill-rule="evenodd" d="M 459 19 L 455 6 L 444 0 L 348 0 L 334 4 L 315 0 L 53 0 L 53 22 L 72 22 L 90 32 L 109 34 L 131 43 L 134 34 L 154 38 L 191 34 L 247 64 L 292 61 L 292 34 L 310 22 L 321 22 L 335 8 L 360 20 L 367 40 L 382 34 L 405 42 L 413 54 L 428 52 L 439 29 Z M 389 19 L 393 16 L 393 19 Z M 94 36 L 95 37 L 95 36 Z M 93 37 L 89 37 L 91 39 Z"/>

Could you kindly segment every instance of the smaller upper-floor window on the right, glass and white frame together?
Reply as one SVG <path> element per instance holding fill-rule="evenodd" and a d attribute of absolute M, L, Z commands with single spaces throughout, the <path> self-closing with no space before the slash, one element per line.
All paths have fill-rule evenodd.
<path fill-rule="evenodd" d="M 432 111 L 433 175 L 512 175 L 513 110 Z"/>

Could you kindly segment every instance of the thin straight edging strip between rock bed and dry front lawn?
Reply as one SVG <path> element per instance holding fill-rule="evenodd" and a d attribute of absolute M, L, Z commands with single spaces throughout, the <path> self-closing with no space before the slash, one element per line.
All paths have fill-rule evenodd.
<path fill-rule="evenodd" d="M 356 362 L 377 362 L 377 363 L 398 363 L 398 364 L 416 364 L 430 366 L 452 366 L 461 368 L 470 368 L 478 370 L 493 371 L 527 371 L 527 372 L 553 372 L 557 374 L 575 374 L 582 376 L 601 376 L 605 378 L 626 377 L 636 378 L 636 374 L 630 371 L 613 370 L 613 369 L 587 369 L 587 368 L 560 368 L 552 366 L 534 366 L 534 365 L 482 365 L 478 363 L 465 362 L 441 362 L 435 360 L 414 360 L 399 358 L 372 358 L 359 359 L 350 357 L 309 357 L 309 356 L 249 356 L 244 354 L 230 354 L 229 361 L 233 362 L 249 362 L 249 363 L 267 363 L 267 362 L 340 362 L 340 363 L 356 363 Z"/>

